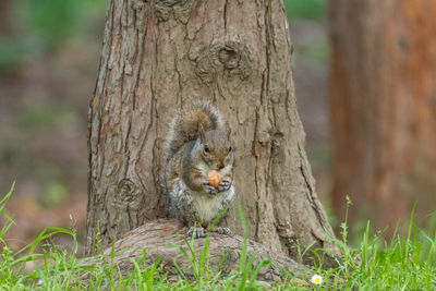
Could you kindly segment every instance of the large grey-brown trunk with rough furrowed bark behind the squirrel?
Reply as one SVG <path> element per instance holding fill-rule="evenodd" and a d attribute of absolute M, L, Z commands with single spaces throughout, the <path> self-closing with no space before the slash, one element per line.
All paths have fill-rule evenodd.
<path fill-rule="evenodd" d="M 109 0 L 89 109 L 87 253 L 98 229 L 105 246 L 168 216 L 162 142 L 175 111 L 198 99 L 232 129 L 249 237 L 294 257 L 298 243 L 325 246 L 331 229 L 304 151 L 290 58 L 279 0 Z M 235 207 L 223 225 L 242 233 Z"/>

